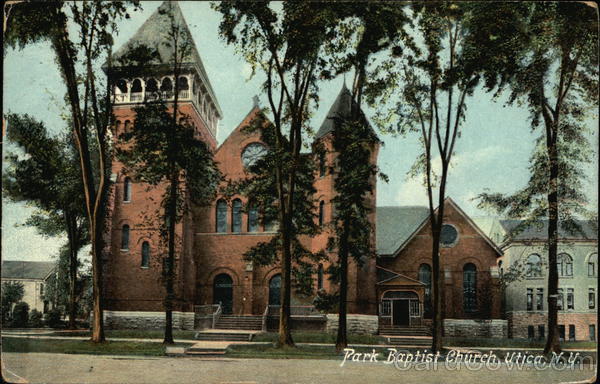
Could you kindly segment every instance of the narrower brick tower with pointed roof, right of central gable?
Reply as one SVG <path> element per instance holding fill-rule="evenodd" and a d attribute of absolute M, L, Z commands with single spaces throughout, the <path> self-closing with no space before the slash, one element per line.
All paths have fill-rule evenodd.
<path fill-rule="evenodd" d="M 335 191 L 335 166 L 337 162 L 337 154 L 333 147 L 333 132 L 341 119 L 349 119 L 352 117 L 352 111 L 358 108 L 356 101 L 352 97 L 350 90 L 346 84 L 342 86 L 337 98 L 333 102 L 331 108 L 327 112 L 327 116 L 321 127 L 317 131 L 315 141 L 313 143 L 313 151 L 317 156 L 317 181 L 315 189 L 319 200 L 318 215 L 319 224 L 326 225 L 334 218 L 333 198 L 336 195 Z M 362 110 L 358 110 L 359 116 L 364 119 L 364 123 L 371 129 L 369 122 L 364 117 Z M 374 144 L 371 151 L 371 163 L 377 164 L 377 155 L 379 152 L 379 144 Z M 369 221 L 371 222 L 371 246 L 375 249 L 375 209 L 376 201 L 376 178 L 371 181 L 374 185 L 373 193 L 365 197 L 365 204 L 369 207 Z M 313 239 L 313 251 L 327 248 L 327 239 L 333 236 L 331 230 L 327 229 Z M 331 262 L 337 261 L 335 252 L 328 252 Z M 363 313 L 376 314 L 375 284 L 376 284 L 376 260 L 374 257 L 365 258 L 364 265 L 359 267 L 352 258 L 348 264 L 348 313 Z M 326 269 L 327 266 L 323 266 Z M 321 279 L 321 269 L 319 267 L 319 284 L 324 280 L 323 288 L 326 291 L 334 291 L 329 289 L 329 281 Z M 320 287 L 319 287 L 320 288 Z"/>

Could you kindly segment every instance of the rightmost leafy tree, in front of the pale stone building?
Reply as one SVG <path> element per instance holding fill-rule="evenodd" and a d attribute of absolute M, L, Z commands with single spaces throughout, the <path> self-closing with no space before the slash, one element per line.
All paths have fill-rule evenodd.
<path fill-rule="evenodd" d="M 508 90 L 509 103 L 523 103 L 531 128 L 540 135 L 530 158 L 527 184 L 512 194 L 482 193 L 480 207 L 524 219 L 509 235 L 548 222 L 548 333 L 544 353 L 559 352 L 558 229 L 581 232 L 578 217 L 590 215 L 584 165 L 590 162 L 586 118 L 598 103 L 597 10 L 584 3 L 527 3 L 523 11 L 503 9 L 512 28 L 503 35 L 476 24 L 480 41 L 492 45 L 503 63 L 486 68 L 488 89 Z M 498 15 L 493 12 L 491 17 Z"/>

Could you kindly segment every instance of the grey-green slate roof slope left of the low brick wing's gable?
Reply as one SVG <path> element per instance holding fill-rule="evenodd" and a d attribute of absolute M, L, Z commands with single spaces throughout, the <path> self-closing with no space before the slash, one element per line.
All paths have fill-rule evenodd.
<path fill-rule="evenodd" d="M 377 254 L 392 255 L 428 217 L 427 207 L 377 207 Z"/>

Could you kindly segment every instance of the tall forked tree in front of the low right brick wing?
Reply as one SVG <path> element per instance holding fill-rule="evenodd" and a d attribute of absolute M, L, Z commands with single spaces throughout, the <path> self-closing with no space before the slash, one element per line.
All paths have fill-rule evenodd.
<path fill-rule="evenodd" d="M 485 6 L 490 5 L 485 3 Z M 493 49 L 482 49 L 474 36 L 476 16 L 484 5 L 455 2 L 413 3 L 414 28 L 397 35 L 389 58 L 370 73 L 366 92 L 370 104 L 387 102 L 374 119 L 384 130 L 417 133 L 422 153 L 410 174 L 422 176 L 427 191 L 432 232 L 432 350 L 442 348 L 443 276 L 440 234 L 448 170 L 455 144 L 461 136 L 469 96 L 480 83 L 482 71 L 499 65 Z M 518 7 L 517 7 L 518 8 Z M 504 25 L 488 24 L 489 34 L 503 32 Z M 487 80 L 487 78 L 486 78 Z M 437 205 L 437 208 L 436 208 Z"/>

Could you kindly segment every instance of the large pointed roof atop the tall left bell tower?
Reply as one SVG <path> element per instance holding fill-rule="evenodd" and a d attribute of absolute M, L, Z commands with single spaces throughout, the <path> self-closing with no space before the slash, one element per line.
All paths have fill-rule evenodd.
<path fill-rule="evenodd" d="M 149 64 L 168 65 L 171 62 L 174 53 L 174 47 L 169 38 L 169 32 L 171 31 L 170 13 L 173 15 L 172 21 L 181 28 L 183 33 L 189 36 L 189 40 L 191 41 L 192 47 L 190 52 L 184 57 L 183 65 L 196 67 L 219 114 L 222 114 L 215 93 L 208 80 L 208 75 L 204 69 L 204 64 L 202 63 L 202 59 L 196 48 L 196 43 L 194 42 L 188 24 L 185 21 L 183 12 L 181 12 L 181 8 L 179 8 L 176 1 L 165 1 L 156 9 L 156 11 L 154 11 L 133 37 L 113 54 L 113 66 L 118 66 L 117 63 L 119 62 L 119 59 L 123 58 L 129 51 L 139 46 L 147 46 L 158 51 L 158 58 L 154 59 Z"/>

